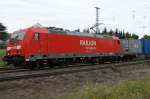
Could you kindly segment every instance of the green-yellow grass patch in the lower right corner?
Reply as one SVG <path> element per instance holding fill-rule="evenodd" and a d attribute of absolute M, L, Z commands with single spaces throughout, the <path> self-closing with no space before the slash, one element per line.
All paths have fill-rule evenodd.
<path fill-rule="evenodd" d="M 111 86 L 88 86 L 79 95 L 65 99 L 150 99 L 150 78 L 126 81 Z"/>

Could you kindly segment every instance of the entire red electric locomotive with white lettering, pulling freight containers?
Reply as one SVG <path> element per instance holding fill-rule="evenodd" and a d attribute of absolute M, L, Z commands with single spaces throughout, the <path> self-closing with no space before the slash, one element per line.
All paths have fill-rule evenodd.
<path fill-rule="evenodd" d="M 30 27 L 16 31 L 7 42 L 4 61 L 36 66 L 53 62 L 119 60 L 123 49 L 117 37 L 73 32 L 55 27 Z"/>

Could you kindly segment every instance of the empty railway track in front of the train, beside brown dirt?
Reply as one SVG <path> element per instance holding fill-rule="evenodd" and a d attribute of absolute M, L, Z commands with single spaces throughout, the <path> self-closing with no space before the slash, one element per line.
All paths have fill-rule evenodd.
<path fill-rule="evenodd" d="M 0 72 L 0 82 L 2 81 L 10 81 L 10 80 L 19 80 L 19 79 L 27 79 L 34 77 L 43 77 L 43 76 L 52 76 L 52 75 L 61 75 L 61 74 L 69 74 L 76 72 L 87 72 L 98 69 L 113 69 L 117 71 L 117 67 L 124 66 L 132 66 L 136 64 L 150 63 L 150 60 L 141 60 L 141 61 L 131 61 L 131 62 L 123 62 L 123 63 L 108 63 L 108 64 L 95 64 L 95 65 L 77 65 L 70 66 L 65 68 L 54 68 L 54 69 L 44 69 L 44 70 L 18 70 L 17 72 Z"/>

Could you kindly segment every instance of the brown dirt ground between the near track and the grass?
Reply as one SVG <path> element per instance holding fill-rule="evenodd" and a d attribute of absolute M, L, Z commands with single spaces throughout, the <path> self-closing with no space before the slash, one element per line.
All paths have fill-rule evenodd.
<path fill-rule="evenodd" d="M 150 76 L 148 63 L 50 77 L 0 82 L 0 99 L 62 99 L 91 84 L 115 84 Z"/>

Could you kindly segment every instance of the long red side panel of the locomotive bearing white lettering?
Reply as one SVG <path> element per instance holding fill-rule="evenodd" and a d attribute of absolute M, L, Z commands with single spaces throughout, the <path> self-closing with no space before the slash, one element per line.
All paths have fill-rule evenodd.
<path fill-rule="evenodd" d="M 48 42 L 48 51 L 49 53 L 54 54 L 120 54 L 122 52 L 121 46 L 118 45 L 117 40 L 114 40 L 112 38 L 95 38 L 65 34 L 49 34 Z M 81 44 L 82 42 L 85 44 Z M 94 42 L 94 44 L 92 44 L 91 42 Z"/>

